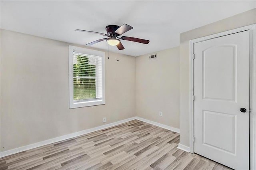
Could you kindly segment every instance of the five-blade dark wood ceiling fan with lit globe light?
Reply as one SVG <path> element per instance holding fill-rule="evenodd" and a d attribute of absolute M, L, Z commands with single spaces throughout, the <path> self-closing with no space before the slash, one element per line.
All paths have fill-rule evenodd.
<path fill-rule="evenodd" d="M 119 39 L 132 41 L 132 42 L 138 42 L 138 43 L 144 43 L 144 44 L 149 43 L 149 40 L 143 40 L 143 39 L 140 39 L 140 38 L 125 37 L 125 36 L 118 37 L 118 36 L 121 36 L 122 34 L 124 34 L 125 32 L 128 32 L 129 30 L 132 30 L 132 28 L 133 28 L 132 26 L 129 26 L 127 24 L 123 24 L 122 26 L 109 25 L 109 26 L 106 26 L 107 34 L 100 33 L 100 32 L 93 32 L 93 31 L 86 31 L 86 30 L 75 30 L 75 31 L 90 32 L 90 33 L 100 34 L 102 36 L 108 36 L 109 37 L 109 38 L 102 38 L 102 39 L 96 40 L 94 42 L 90 42 L 86 45 L 93 45 L 95 43 L 102 42 L 102 41 L 106 40 L 109 45 L 113 45 L 113 46 L 116 45 L 116 47 L 118 47 L 119 50 L 122 50 L 122 49 L 124 49 L 124 46 L 122 45 L 122 43 Z"/>

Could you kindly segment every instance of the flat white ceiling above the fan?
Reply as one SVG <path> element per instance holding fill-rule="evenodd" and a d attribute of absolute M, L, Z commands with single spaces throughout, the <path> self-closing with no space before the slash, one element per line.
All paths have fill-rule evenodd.
<path fill-rule="evenodd" d="M 180 33 L 253 8 L 256 1 L 1 1 L 1 28 L 84 45 L 106 37 L 75 29 L 106 33 L 107 25 L 125 23 L 134 29 L 122 36 L 150 40 L 122 40 L 119 53 L 138 56 L 178 46 Z M 108 49 L 105 41 L 92 47 Z"/>

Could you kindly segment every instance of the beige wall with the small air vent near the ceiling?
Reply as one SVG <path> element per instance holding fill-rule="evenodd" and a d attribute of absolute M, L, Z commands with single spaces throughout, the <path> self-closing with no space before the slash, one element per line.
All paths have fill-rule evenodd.
<path fill-rule="evenodd" d="M 179 128 L 179 47 L 156 53 L 136 57 L 136 116 Z"/>

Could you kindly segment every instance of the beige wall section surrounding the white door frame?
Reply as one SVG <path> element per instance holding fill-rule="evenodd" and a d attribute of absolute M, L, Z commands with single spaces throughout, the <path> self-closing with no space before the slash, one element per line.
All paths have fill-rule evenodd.
<path fill-rule="evenodd" d="M 180 143 L 189 146 L 189 40 L 256 23 L 256 8 L 180 34 Z"/>

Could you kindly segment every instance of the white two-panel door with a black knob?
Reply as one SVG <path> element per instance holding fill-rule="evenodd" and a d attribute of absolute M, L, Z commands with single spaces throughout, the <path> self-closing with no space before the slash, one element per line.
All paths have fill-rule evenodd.
<path fill-rule="evenodd" d="M 195 43 L 194 55 L 194 152 L 248 170 L 250 33 Z"/>

